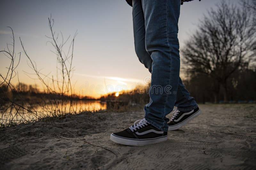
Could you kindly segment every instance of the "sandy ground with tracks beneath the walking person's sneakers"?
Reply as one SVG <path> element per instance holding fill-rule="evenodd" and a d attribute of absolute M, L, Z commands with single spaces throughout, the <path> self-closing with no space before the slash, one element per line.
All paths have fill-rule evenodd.
<path fill-rule="evenodd" d="M 166 142 L 109 140 L 143 112 L 67 115 L 0 130 L 0 169 L 256 169 L 256 104 L 200 105 Z M 171 115 L 169 115 L 171 117 Z"/>

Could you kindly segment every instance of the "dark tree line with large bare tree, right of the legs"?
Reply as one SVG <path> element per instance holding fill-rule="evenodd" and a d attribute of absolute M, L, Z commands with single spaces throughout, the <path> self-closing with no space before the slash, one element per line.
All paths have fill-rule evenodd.
<path fill-rule="evenodd" d="M 255 100 L 255 4 L 217 4 L 181 50 L 184 84 L 196 101 Z"/>

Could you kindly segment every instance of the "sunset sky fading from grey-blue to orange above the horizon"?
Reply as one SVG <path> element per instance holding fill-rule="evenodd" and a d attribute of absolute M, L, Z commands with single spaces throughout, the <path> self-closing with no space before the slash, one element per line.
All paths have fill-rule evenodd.
<path fill-rule="evenodd" d="M 195 32 L 200 19 L 207 15 L 207 10 L 215 8 L 220 1 L 194 0 L 181 5 L 180 49 Z M 230 2 L 238 4 L 239 0 Z M 28 67 L 28 58 L 22 53 L 19 37 L 37 68 L 43 74 L 56 76 L 56 55 L 51 52 L 54 50 L 51 44 L 46 43 L 49 40 L 46 36 L 51 35 L 50 16 L 54 19 L 54 31 L 61 31 L 64 38 L 72 37 L 77 31 L 71 79 L 76 93 L 100 97 L 118 91 L 119 87 L 132 89 L 150 78 L 134 51 L 132 7 L 125 0 L 1 0 L 0 50 L 6 49 L 6 43 L 12 41 L 7 28 L 10 26 L 14 32 L 16 56 L 21 52 L 16 69 L 20 82 L 40 85 L 34 75 L 28 76 L 34 72 Z M 67 51 L 68 46 L 63 50 Z M 6 74 L 5 67 L 9 64 L 10 59 L 0 54 L 2 75 Z M 184 77 L 182 73 L 181 77 Z M 17 82 L 16 76 L 12 83 Z"/>

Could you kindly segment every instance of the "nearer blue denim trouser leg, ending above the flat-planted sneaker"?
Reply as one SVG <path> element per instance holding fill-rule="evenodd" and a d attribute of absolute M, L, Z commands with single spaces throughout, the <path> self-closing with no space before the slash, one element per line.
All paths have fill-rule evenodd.
<path fill-rule="evenodd" d="M 180 74 L 178 19 L 180 0 L 141 0 L 145 18 L 145 46 L 152 59 L 150 102 L 145 118 L 168 131 L 169 114 L 176 101 Z"/>

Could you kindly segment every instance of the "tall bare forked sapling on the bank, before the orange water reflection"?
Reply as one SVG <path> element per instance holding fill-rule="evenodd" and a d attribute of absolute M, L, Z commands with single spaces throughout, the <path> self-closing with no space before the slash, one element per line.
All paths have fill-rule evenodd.
<path fill-rule="evenodd" d="M 75 33 L 69 45 L 68 51 L 65 53 L 62 48 L 68 42 L 70 36 L 65 40 L 61 32 L 60 34 L 56 34 L 55 31 L 53 31 L 54 20 L 51 17 L 48 18 L 48 24 L 51 31 L 51 36 L 46 37 L 50 39 L 48 42 L 54 47 L 55 51 L 52 52 L 56 55 L 58 62 L 56 68 L 56 77 L 53 75 L 49 76 L 48 74 L 46 75 L 40 72 L 40 69 L 36 67 L 36 63 L 31 60 L 31 57 L 26 52 L 25 46 L 21 39 L 20 42 L 23 48 L 23 52 L 29 60 L 29 67 L 34 71 L 32 74 L 36 75 L 36 78 L 41 81 L 44 87 L 44 92 L 50 94 L 48 98 L 45 99 L 45 101 L 50 101 L 50 104 L 52 104 L 51 108 L 54 108 L 53 110 L 50 110 L 50 112 L 53 112 L 56 115 L 64 115 L 70 113 L 72 106 L 72 96 L 74 95 L 71 84 L 71 74 L 74 71 L 72 67 L 72 61 L 74 41 L 77 33 Z M 60 38 L 59 35 L 61 36 Z M 60 43 L 58 42 L 59 39 Z M 46 102 L 43 104 L 46 105 Z"/>

